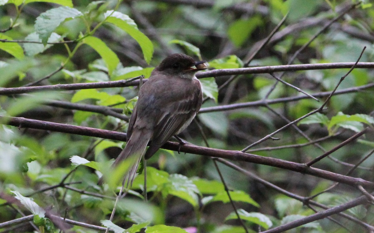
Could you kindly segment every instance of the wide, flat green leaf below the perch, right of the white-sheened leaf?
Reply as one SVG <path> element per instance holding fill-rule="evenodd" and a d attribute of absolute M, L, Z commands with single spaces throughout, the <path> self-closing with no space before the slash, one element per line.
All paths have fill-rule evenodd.
<path fill-rule="evenodd" d="M 245 193 L 241 190 L 236 190 L 236 191 L 230 191 L 230 196 L 231 196 L 231 199 L 233 201 L 237 201 L 237 202 L 245 202 L 245 203 L 248 203 L 248 204 L 251 204 L 251 205 L 254 205 L 256 207 L 260 207 L 260 205 L 258 205 L 257 202 L 255 202 L 249 195 L 248 193 Z M 226 191 L 222 191 L 220 193 L 217 193 L 217 195 L 215 196 L 208 196 L 208 197 L 205 197 L 201 200 L 201 202 L 206 205 L 206 204 L 209 204 L 211 202 L 215 202 L 215 201 L 221 201 L 223 203 L 229 203 L 230 202 L 230 199 L 229 199 L 229 196 L 227 196 L 227 193 Z"/>

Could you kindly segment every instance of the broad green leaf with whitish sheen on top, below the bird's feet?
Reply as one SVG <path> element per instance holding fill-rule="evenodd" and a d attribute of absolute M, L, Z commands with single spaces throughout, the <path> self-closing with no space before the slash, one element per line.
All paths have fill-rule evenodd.
<path fill-rule="evenodd" d="M 171 174 L 169 176 L 169 182 L 166 183 L 165 187 L 162 189 L 164 197 L 168 195 L 177 196 L 189 202 L 194 207 L 199 206 L 198 193 L 199 190 L 192 180 L 181 174 Z"/>

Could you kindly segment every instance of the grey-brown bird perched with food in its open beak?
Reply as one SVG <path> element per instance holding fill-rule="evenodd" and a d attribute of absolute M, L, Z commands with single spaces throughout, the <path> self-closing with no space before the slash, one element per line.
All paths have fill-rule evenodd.
<path fill-rule="evenodd" d="M 124 175 L 127 187 L 132 186 L 141 158 L 151 158 L 172 136 L 187 128 L 196 116 L 203 94 L 195 74 L 207 69 L 205 63 L 181 53 L 171 54 L 153 69 L 147 82 L 141 86 L 129 120 L 126 146 L 112 165 L 116 167 L 132 157 L 133 163 Z M 102 182 L 101 178 L 98 183 Z"/>

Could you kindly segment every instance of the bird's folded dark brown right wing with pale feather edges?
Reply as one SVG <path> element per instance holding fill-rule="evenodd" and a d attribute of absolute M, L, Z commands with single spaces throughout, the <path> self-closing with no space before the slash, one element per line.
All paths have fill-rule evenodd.
<path fill-rule="evenodd" d="M 175 99 L 168 106 L 165 106 L 166 114 L 160 117 L 154 128 L 150 146 L 145 153 L 146 159 L 156 153 L 170 137 L 180 133 L 191 123 L 202 103 L 202 91 L 199 81 L 196 82 L 196 85 L 199 86 L 194 88 L 196 90 L 194 93 Z"/>

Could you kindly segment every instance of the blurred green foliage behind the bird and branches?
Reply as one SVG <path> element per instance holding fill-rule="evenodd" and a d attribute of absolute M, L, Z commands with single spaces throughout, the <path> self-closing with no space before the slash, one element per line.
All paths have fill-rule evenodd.
<path fill-rule="evenodd" d="M 0 0 L 0 39 L 13 41 L 0 42 L 0 86 L 91 83 L 139 75 L 148 78 L 154 66 L 171 53 L 186 53 L 206 60 L 210 69 L 285 65 L 342 12 L 345 12 L 343 16 L 317 34 L 291 64 L 355 62 L 364 46 L 367 49 L 360 62 L 373 62 L 374 6 L 370 0 Z M 269 43 L 249 62 L 287 13 L 285 22 Z M 334 90 L 347 71 L 293 71 L 286 72 L 282 79 L 313 94 Z M 373 74 L 373 69 L 354 69 L 338 90 L 371 84 Z M 225 84 L 229 78 L 200 79 L 206 97 L 202 110 L 304 95 L 282 83 L 274 86 L 276 80 L 270 74 L 238 75 Z M 124 109 L 123 114 L 129 117 L 137 92 L 138 87 L 108 87 L 2 95 L 0 111 L 1 116 L 126 132 L 126 117 L 119 119 L 113 115 L 69 109 L 63 103 L 110 107 L 117 112 Z M 304 98 L 267 106 L 258 104 L 229 111 L 202 112 L 181 137 L 195 145 L 207 146 L 205 136 L 209 147 L 242 150 L 287 124 L 282 117 L 293 121 L 319 108 L 326 97 L 318 99 L 320 102 Z M 288 127 L 275 135 L 280 140 L 266 140 L 248 152 L 308 162 L 372 125 L 373 103 L 373 88 L 333 96 L 327 110 L 298 125 L 311 140 L 322 139 L 319 146 L 300 146 L 308 140 L 295 128 Z M 123 142 L 49 130 L 18 129 L 3 123 L 0 125 L 0 222 L 30 214 L 30 207 L 25 205 L 30 202 L 42 207 L 31 211 L 42 220 L 38 222 L 34 218 L 34 226 L 26 222 L 13 228 L 4 227 L 0 232 L 59 232 L 58 228 L 63 229 L 61 226 L 53 229 L 53 224 L 44 218 L 45 210 L 47 215 L 93 225 L 100 225 L 101 220 L 109 218 L 117 184 L 115 188 L 97 186 L 98 171 L 105 170 L 102 167 L 105 161 L 116 158 Z M 299 146 L 274 148 L 284 145 Z M 367 133 L 332 153 L 333 159 L 322 159 L 315 167 L 346 174 L 373 150 L 373 145 L 373 135 Z M 236 164 L 300 196 L 315 195 L 333 184 L 280 168 Z M 135 180 L 134 190 L 119 202 L 114 219 L 102 222 L 105 227 L 111 226 L 117 232 L 121 229 L 116 227 L 132 227 L 128 232 L 137 232 L 145 226 L 148 226 L 147 232 L 245 232 L 233 213 L 212 159 L 160 149 L 147 165 L 148 203 L 142 201 L 144 176 L 141 174 Z M 350 176 L 374 181 L 373 165 L 374 157 L 368 156 Z M 248 232 L 281 226 L 314 213 L 302 202 L 270 189 L 261 181 L 254 181 L 223 164 L 218 167 L 232 190 L 233 201 Z M 16 195 L 26 207 L 9 204 L 6 197 L 11 195 Z M 33 201 L 25 198 L 30 195 Z M 359 190 L 340 184 L 313 200 L 334 206 L 359 195 Z M 346 213 L 361 223 L 374 224 L 372 204 L 356 206 Z M 334 219 L 324 218 L 289 232 L 345 233 L 370 229 L 341 216 L 334 216 Z M 68 225 L 63 230 L 96 232 L 98 229 Z"/>

